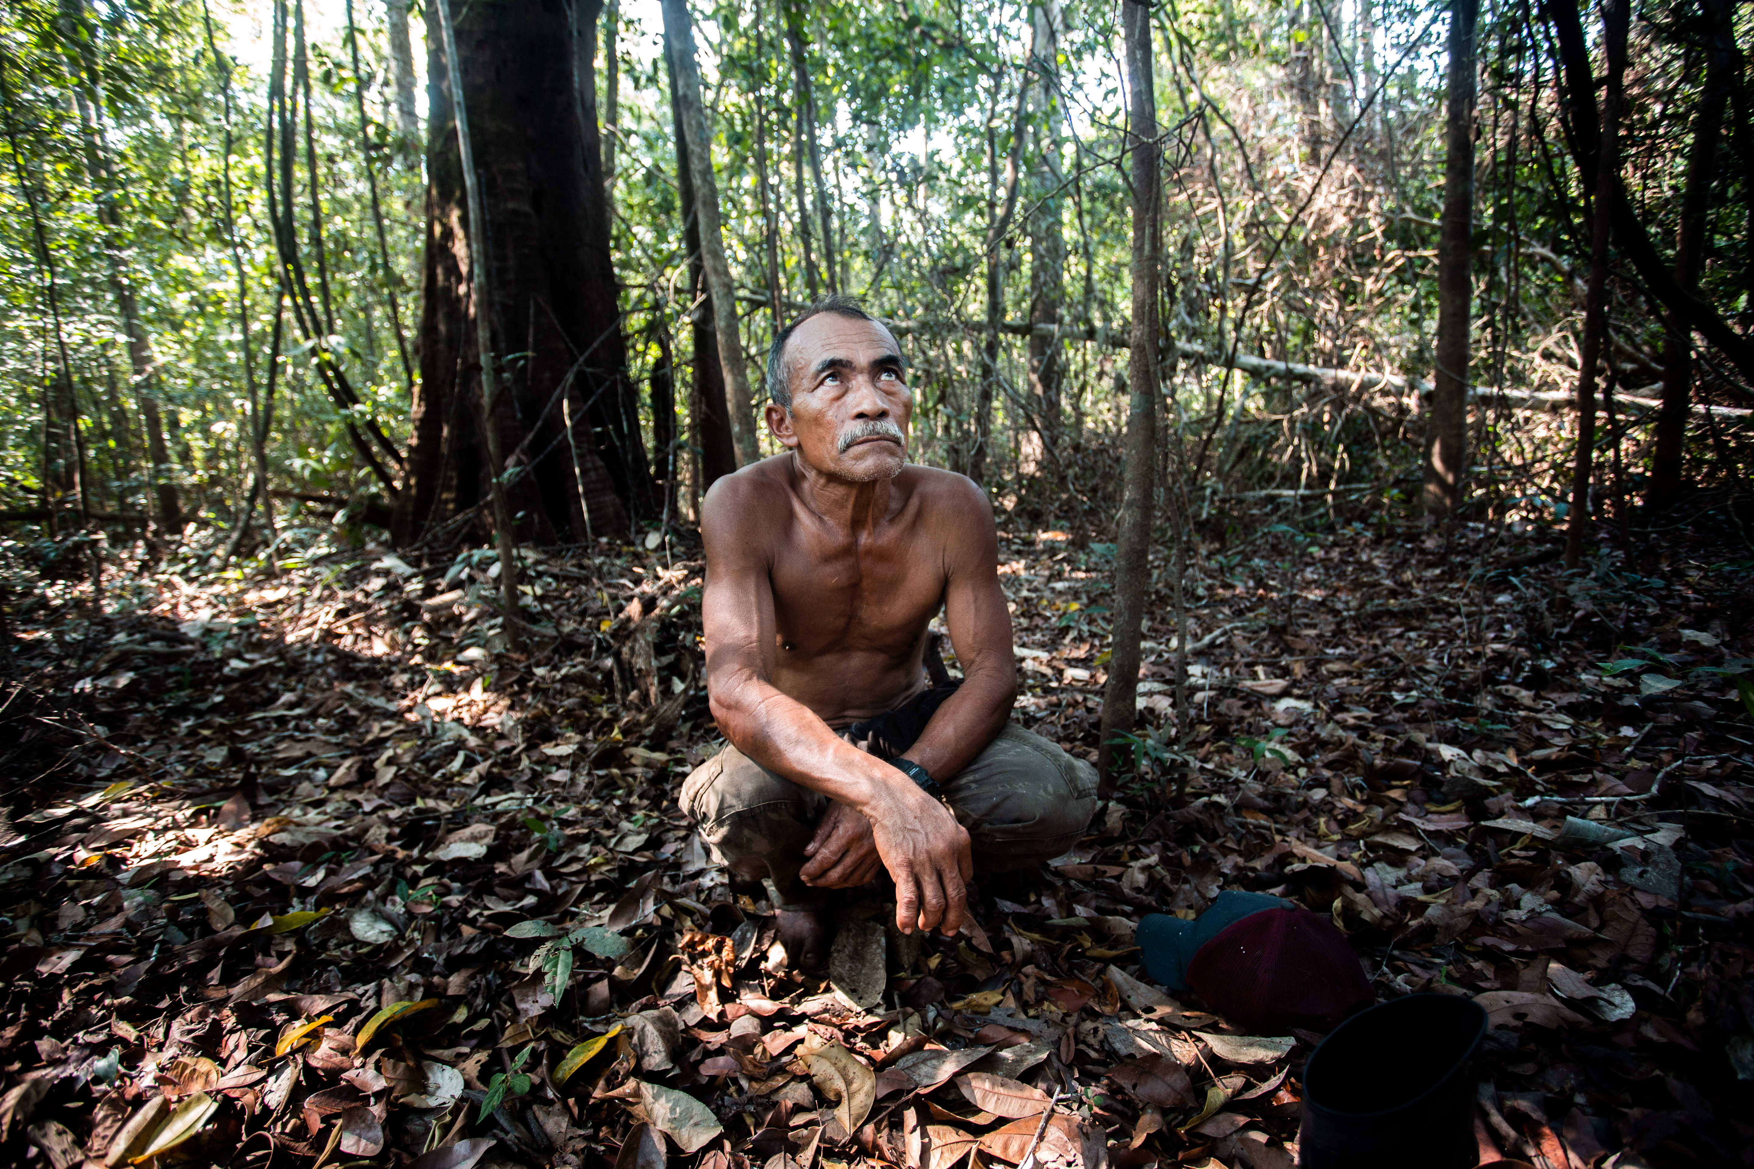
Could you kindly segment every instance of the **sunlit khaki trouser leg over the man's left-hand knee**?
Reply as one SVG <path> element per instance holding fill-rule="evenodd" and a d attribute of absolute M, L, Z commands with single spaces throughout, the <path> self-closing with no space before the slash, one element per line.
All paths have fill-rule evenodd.
<path fill-rule="evenodd" d="M 726 743 L 682 782 L 681 804 L 733 878 L 772 876 L 774 887 L 786 894 L 803 868 L 803 847 L 816 834 L 828 797 L 774 775 Z"/>

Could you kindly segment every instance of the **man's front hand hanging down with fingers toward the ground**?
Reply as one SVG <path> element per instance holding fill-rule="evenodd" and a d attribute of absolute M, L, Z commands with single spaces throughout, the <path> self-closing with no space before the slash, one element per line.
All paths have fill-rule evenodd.
<path fill-rule="evenodd" d="M 968 829 L 905 778 L 886 783 L 865 808 L 872 843 L 895 878 L 895 925 L 903 934 L 963 927 L 973 876 Z M 826 817 L 824 817 L 826 820 Z"/>

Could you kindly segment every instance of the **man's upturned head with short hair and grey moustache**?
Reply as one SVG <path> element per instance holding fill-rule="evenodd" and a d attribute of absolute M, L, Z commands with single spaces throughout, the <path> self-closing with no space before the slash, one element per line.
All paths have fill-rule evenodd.
<path fill-rule="evenodd" d="M 824 312 L 798 326 L 782 359 L 791 410 L 766 407 L 768 429 L 782 443 L 833 478 L 875 482 L 902 473 L 914 393 L 889 329 Z"/>

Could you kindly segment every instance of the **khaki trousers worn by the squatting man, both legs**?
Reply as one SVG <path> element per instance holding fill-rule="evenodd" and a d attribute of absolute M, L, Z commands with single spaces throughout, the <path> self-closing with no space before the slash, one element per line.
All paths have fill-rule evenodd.
<path fill-rule="evenodd" d="M 1007 722 L 944 783 L 944 794 L 968 829 L 979 878 L 1051 861 L 1075 845 L 1096 813 L 1096 768 Z M 803 847 L 828 808 L 821 792 L 774 775 L 728 743 L 682 782 L 681 803 L 731 876 L 772 876 L 781 892 L 803 868 Z"/>

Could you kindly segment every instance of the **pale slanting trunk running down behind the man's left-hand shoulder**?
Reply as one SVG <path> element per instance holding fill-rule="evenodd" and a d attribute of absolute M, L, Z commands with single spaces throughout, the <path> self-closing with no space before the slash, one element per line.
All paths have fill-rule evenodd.
<path fill-rule="evenodd" d="M 749 368 L 737 328 L 737 284 L 724 258 L 724 231 L 719 223 L 719 184 L 712 177 L 712 131 L 700 96 L 700 67 L 695 61 L 695 30 L 686 0 L 663 0 L 665 39 L 675 61 L 677 96 L 682 103 L 682 135 L 688 140 L 688 166 L 695 181 L 695 216 L 700 223 L 700 259 L 712 293 L 714 329 L 719 335 L 719 365 L 724 366 L 724 408 L 731 415 L 731 442 L 737 464 L 761 457 L 754 417 L 749 405 Z"/>

